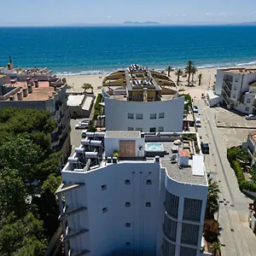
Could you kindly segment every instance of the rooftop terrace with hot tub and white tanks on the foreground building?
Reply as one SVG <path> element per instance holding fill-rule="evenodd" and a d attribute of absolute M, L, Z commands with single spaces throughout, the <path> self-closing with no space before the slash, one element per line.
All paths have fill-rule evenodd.
<path fill-rule="evenodd" d="M 196 133 L 140 131 L 84 132 L 82 145 L 62 172 L 96 172 L 99 167 L 129 161 L 155 162 L 180 183 L 207 185 L 203 155 Z M 119 152 L 119 160 L 114 157 Z M 160 160 L 157 160 L 159 157 Z"/>

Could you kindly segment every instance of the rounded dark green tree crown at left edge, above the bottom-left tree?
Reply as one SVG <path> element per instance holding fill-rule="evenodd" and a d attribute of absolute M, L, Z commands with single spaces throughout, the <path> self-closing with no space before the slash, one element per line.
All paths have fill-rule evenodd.
<path fill-rule="evenodd" d="M 22 216 L 26 212 L 26 187 L 19 172 L 4 169 L 0 172 L 0 211 L 1 217 L 15 212 L 15 216 Z"/>

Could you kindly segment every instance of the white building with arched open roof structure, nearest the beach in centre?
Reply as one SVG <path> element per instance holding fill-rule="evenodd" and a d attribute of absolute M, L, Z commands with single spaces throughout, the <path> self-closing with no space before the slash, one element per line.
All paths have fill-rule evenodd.
<path fill-rule="evenodd" d="M 137 64 L 103 79 L 107 131 L 183 131 L 184 97 L 166 74 Z"/>

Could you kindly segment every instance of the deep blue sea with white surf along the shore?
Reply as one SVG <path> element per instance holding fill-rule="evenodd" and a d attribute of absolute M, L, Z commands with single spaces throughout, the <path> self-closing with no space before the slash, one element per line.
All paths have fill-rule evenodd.
<path fill-rule="evenodd" d="M 49 67 L 64 75 L 256 65 L 256 26 L 0 27 L 0 66 Z"/>

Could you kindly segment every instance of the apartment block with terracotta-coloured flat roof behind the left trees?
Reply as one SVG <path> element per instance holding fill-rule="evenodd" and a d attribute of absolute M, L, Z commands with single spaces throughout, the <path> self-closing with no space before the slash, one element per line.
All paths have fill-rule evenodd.
<path fill-rule="evenodd" d="M 70 122 L 67 110 L 67 84 L 55 77 L 16 77 L 0 74 L 0 108 L 36 108 L 49 110 L 57 125 L 51 134 L 52 150 L 62 150 L 61 164 L 71 152 Z"/>

